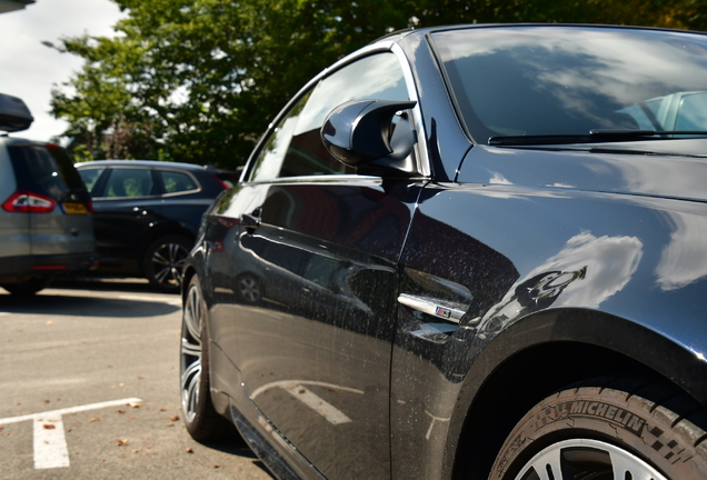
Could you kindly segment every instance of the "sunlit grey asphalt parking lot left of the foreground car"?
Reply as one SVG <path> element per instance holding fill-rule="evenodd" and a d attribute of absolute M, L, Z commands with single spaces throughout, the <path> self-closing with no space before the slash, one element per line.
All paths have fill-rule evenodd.
<path fill-rule="evenodd" d="M 183 428 L 180 319 L 141 280 L 0 291 L 0 478 L 270 479 L 238 438 Z"/>

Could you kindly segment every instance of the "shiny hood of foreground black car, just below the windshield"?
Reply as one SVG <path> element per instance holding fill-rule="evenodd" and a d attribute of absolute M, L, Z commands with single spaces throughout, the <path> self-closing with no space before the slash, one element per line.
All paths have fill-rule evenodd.
<path fill-rule="evenodd" d="M 457 181 L 707 200 L 707 140 L 476 146 Z"/>

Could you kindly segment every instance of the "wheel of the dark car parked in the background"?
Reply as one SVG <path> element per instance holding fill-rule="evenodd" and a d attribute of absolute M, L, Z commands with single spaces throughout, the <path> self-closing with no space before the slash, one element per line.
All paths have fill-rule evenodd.
<path fill-rule="evenodd" d="M 152 287 L 165 292 L 181 289 L 185 261 L 193 241 L 180 234 L 166 236 L 153 241 L 145 252 L 142 271 Z"/>

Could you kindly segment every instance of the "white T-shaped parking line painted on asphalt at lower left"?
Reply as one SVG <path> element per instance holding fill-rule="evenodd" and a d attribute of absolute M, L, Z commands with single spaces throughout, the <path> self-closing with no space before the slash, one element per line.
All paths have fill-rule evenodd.
<path fill-rule="evenodd" d="M 69 449 L 67 447 L 67 438 L 61 416 L 128 403 L 140 403 L 141 401 L 142 400 L 138 398 L 128 398 L 41 413 L 9 417 L 0 419 L 0 426 L 32 420 L 34 430 L 34 469 L 63 468 L 69 467 Z"/>

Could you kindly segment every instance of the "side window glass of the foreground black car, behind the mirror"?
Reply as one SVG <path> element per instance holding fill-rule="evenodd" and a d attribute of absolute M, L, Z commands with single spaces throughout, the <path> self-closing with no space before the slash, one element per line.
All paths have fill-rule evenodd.
<path fill-rule="evenodd" d="M 409 99 L 395 54 L 365 57 L 320 81 L 280 122 L 260 152 L 250 180 L 354 173 L 352 168 L 329 154 L 319 130 L 335 107 L 364 99 Z"/>

